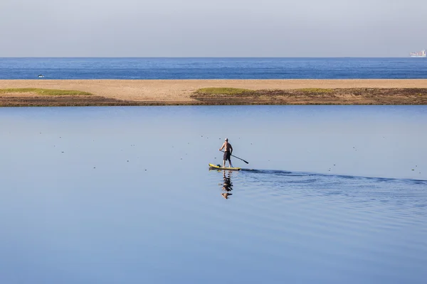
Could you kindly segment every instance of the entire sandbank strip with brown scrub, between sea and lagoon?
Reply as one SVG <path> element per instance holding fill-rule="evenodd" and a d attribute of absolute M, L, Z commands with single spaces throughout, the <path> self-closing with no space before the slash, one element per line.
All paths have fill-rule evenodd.
<path fill-rule="evenodd" d="M 0 80 L 4 89 L 58 89 L 90 96 L 0 93 L 0 107 L 167 106 L 241 104 L 427 104 L 427 79 L 351 80 Z M 201 94 L 204 88 L 240 88 L 251 95 Z M 333 92 L 305 92 L 328 89 Z"/>

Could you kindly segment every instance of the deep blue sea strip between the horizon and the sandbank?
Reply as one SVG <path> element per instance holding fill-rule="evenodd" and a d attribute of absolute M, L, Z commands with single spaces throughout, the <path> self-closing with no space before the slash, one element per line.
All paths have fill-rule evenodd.
<path fill-rule="evenodd" d="M 0 58 L 0 79 L 426 79 L 426 58 Z M 41 79 L 41 80 L 43 80 Z"/>

